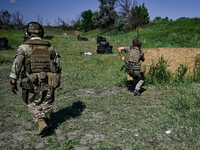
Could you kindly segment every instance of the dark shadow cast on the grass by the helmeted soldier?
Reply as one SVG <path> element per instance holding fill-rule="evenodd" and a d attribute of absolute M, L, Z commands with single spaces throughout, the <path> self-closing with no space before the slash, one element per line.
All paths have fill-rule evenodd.
<path fill-rule="evenodd" d="M 57 129 L 57 127 L 63 122 L 70 118 L 76 118 L 80 116 L 85 108 L 85 104 L 81 101 L 78 101 L 74 102 L 70 107 L 63 108 L 58 112 L 53 113 L 51 117 L 50 135 L 55 133 L 54 130 Z"/>

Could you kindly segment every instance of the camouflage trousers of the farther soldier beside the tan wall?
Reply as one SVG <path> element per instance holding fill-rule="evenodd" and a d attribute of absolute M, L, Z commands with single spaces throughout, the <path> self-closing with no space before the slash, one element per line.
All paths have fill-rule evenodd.
<path fill-rule="evenodd" d="M 140 90 L 140 88 L 142 87 L 142 85 L 144 84 L 144 73 L 139 72 L 139 71 L 134 71 L 134 74 L 131 75 L 131 77 L 133 78 L 133 81 L 135 83 L 135 90 Z"/>

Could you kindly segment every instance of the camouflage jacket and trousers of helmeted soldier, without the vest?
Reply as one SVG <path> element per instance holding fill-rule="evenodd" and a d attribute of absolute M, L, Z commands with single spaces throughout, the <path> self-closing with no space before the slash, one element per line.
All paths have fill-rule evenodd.
<path fill-rule="evenodd" d="M 41 40 L 39 37 L 33 37 L 31 40 Z M 52 46 L 48 47 L 51 58 L 61 70 L 58 53 Z M 32 47 L 28 44 L 22 44 L 17 49 L 13 66 L 11 68 L 10 77 L 19 79 L 19 75 L 24 66 L 24 60 L 30 57 Z M 54 102 L 54 89 L 48 85 L 48 77 L 46 72 L 26 73 L 27 77 L 33 83 L 33 90 L 28 93 L 28 107 L 35 123 L 38 121 L 48 121 L 51 118 L 52 105 Z"/>

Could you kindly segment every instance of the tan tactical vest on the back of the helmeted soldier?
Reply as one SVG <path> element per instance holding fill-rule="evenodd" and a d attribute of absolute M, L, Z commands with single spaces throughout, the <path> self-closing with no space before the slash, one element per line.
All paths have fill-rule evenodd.
<path fill-rule="evenodd" d="M 27 40 L 24 44 L 30 44 L 32 51 L 25 60 L 25 70 L 28 73 L 51 72 L 52 62 L 48 50 L 50 43 L 41 40 Z"/>

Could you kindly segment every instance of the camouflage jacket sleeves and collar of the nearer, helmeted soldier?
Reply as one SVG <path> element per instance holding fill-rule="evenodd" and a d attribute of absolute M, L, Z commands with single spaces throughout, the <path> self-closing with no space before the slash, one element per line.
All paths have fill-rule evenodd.
<path fill-rule="evenodd" d="M 40 37 L 32 37 L 30 40 L 42 40 Z M 30 55 L 31 51 L 30 51 L 30 45 L 29 44 L 22 44 L 18 47 L 16 54 L 15 54 L 15 58 L 14 58 L 14 62 L 11 68 L 11 74 L 10 77 L 13 79 L 19 79 L 19 75 L 20 72 L 23 68 L 23 66 L 25 65 L 25 58 L 26 56 Z M 54 61 L 57 63 L 57 66 L 60 67 L 60 61 L 58 59 L 58 53 L 55 51 L 55 49 L 52 46 L 48 47 L 48 50 L 50 52 L 51 55 L 53 55 Z"/>

